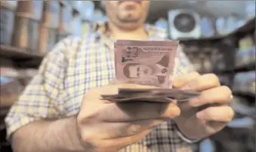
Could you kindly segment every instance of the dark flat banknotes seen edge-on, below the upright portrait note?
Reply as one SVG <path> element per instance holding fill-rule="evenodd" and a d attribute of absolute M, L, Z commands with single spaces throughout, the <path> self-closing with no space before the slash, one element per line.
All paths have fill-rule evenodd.
<path fill-rule="evenodd" d="M 179 89 L 119 89 L 117 94 L 101 95 L 102 99 L 112 102 L 178 102 L 188 101 L 190 98 L 199 96 L 200 93 L 194 90 Z"/>

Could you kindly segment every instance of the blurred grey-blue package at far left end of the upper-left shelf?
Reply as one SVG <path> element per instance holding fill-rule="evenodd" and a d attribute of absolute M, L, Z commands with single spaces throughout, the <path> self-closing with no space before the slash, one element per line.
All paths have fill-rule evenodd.
<path fill-rule="evenodd" d="M 2 1 L 1 1 L 2 2 Z M 14 29 L 15 8 L 8 8 L 2 5 L 0 8 L 1 26 L 0 26 L 0 44 L 11 44 L 11 37 Z"/>

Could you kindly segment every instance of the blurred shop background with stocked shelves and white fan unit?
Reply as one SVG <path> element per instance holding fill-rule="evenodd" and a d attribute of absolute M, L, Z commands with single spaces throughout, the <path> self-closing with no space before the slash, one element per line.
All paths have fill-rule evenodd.
<path fill-rule="evenodd" d="M 5 140 L 5 114 L 42 58 L 57 41 L 90 33 L 94 23 L 108 19 L 100 1 L 0 2 L 0 150 L 11 152 Z M 221 132 L 192 144 L 193 150 L 255 151 L 255 2 L 153 1 L 147 25 L 180 40 L 197 71 L 217 74 L 233 90 L 235 118 Z"/>

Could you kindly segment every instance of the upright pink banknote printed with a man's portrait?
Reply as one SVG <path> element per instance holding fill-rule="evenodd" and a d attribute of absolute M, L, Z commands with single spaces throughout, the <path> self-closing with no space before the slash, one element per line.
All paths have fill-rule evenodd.
<path fill-rule="evenodd" d="M 116 79 L 169 88 L 178 44 L 179 41 L 116 41 Z"/>

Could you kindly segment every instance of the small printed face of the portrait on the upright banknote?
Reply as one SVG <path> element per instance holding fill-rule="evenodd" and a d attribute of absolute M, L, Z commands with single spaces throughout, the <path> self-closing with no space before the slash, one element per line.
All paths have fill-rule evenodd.
<path fill-rule="evenodd" d="M 150 65 L 134 65 L 129 67 L 131 78 L 143 78 L 153 74 L 153 68 Z"/>

